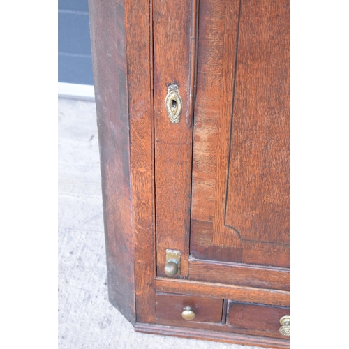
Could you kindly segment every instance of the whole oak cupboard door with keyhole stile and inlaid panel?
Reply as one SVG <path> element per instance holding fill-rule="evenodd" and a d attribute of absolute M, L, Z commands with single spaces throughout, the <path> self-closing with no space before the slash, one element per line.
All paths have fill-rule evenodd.
<path fill-rule="evenodd" d="M 157 275 L 288 290 L 289 0 L 154 0 Z M 172 124 L 168 87 L 183 110 Z"/>

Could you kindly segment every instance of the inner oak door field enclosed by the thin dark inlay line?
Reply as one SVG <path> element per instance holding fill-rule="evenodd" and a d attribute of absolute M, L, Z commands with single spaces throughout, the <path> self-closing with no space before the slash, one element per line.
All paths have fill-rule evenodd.
<path fill-rule="evenodd" d="M 245 240 L 289 244 L 288 4 L 248 2 L 239 25 L 225 226 Z"/>

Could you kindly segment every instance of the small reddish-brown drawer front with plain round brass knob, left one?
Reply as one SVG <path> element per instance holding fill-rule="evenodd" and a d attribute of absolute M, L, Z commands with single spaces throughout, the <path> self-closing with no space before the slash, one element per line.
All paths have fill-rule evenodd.
<path fill-rule="evenodd" d="M 183 311 L 190 307 L 195 317 L 185 320 Z M 185 295 L 156 294 L 156 320 L 158 323 L 191 326 L 193 322 L 221 322 L 223 299 Z M 187 310 L 188 311 L 188 310 Z"/>

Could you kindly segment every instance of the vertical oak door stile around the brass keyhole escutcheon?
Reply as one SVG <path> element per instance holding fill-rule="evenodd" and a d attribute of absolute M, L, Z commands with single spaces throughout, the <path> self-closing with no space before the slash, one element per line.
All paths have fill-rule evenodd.
<path fill-rule="evenodd" d="M 191 146 L 195 80 L 196 1 L 153 2 L 154 126 L 157 274 L 165 276 L 165 250 L 181 251 L 188 276 L 191 209 Z M 165 110 L 168 86 L 177 84 L 183 101 L 179 124 Z"/>

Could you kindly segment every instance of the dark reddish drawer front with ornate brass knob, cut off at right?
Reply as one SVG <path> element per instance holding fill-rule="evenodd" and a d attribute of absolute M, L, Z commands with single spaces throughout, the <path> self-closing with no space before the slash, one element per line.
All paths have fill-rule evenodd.
<path fill-rule="evenodd" d="M 290 308 L 228 302 L 227 325 L 233 332 L 289 339 L 279 333 L 280 318 L 290 315 Z"/>

